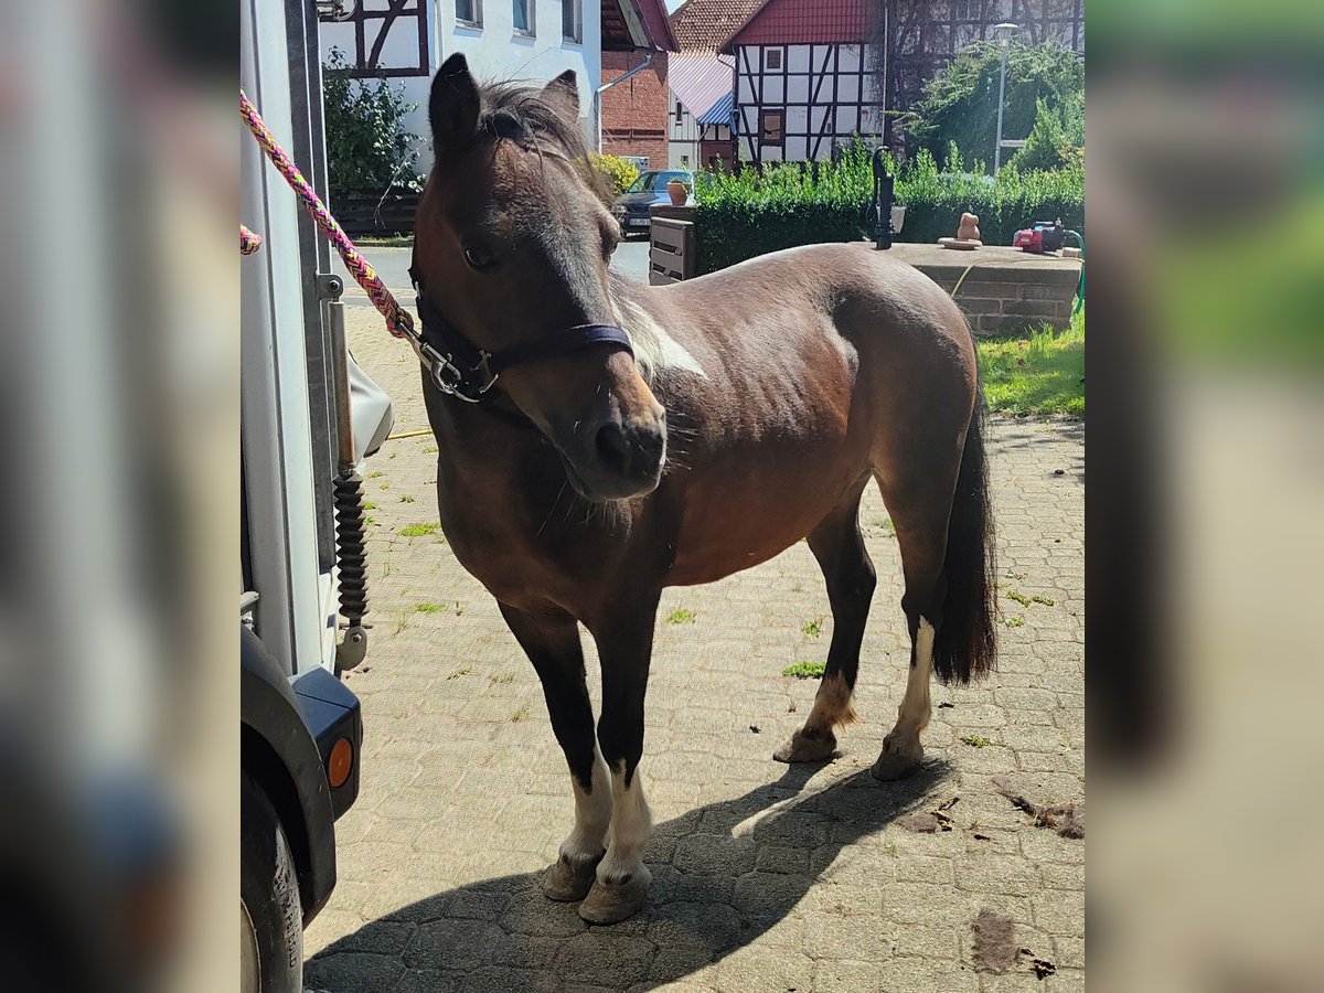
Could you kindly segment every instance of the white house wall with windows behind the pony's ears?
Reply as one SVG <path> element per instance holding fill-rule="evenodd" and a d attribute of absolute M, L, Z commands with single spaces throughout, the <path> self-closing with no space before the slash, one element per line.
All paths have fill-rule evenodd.
<path fill-rule="evenodd" d="M 360 0 L 368 9 L 387 7 L 388 0 Z M 591 114 L 593 90 L 602 75 L 601 4 L 583 0 L 583 44 L 561 40 L 561 0 L 534 0 L 535 36 L 515 33 L 515 15 L 511 0 L 483 0 L 482 28 L 470 28 L 455 21 L 455 0 L 417 0 L 426 5 L 428 46 L 426 69 L 420 70 L 418 34 L 416 19 L 399 19 L 381 46 L 379 65 L 383 69 L 412 69 L 414 75 L 388 79 L 391 86 L 404 89 L 405 99 L 417 109 L 405 118 L 405 128 L 418 135 L 418 171 L 432 168 L 430 128 L 428 126 L 428 93 L 437 68 L 455 52 L 469 60 L 469 68 L 479 82 L 500 79 L 530 79 L 545 82 L 573 69 L 580 90 L 580 123 L 585 138 L 593 136 Z M 410 4 L 412 5 L 412 4 Z M 332 46 L 354 62 L 355 25 L 352 23 L 322 23 L 322 61 Z"/>

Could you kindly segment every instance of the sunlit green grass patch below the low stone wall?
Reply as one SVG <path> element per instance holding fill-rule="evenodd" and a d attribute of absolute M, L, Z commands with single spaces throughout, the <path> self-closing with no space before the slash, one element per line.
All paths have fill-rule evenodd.
<path fill-rule="evenodd" d="M 1023 417 L 1084 417 L 1084 310 L 1066 331 L 1045 328 L 1029 340 L 978 342 L 980 375 L 989 409 Z"/>

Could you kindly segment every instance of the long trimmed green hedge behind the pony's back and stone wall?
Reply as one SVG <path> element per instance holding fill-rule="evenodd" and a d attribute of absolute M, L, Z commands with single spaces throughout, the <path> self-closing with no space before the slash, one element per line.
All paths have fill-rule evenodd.
<path fill-rule="evenodd" d="M 1084 175 L 1080 169 L 1021 175 L 1004 168 L 984 176 L 939 175 L 920 152 L 896 176 L 896 203 L 906 204 L 898 241 L 933 242 L 956 234 L 965 211 L 978 214 L 985 244 L 1010 245 L 1037 220 L 1061 217 L 1084 233 Z M 695 189 L 696 271 L 712 273 L 796 245 L 857 241 L 873 196 L 870 151 L 845 148 L 837 162 L 745 167 L 736 173 L 700 173 Z"/>

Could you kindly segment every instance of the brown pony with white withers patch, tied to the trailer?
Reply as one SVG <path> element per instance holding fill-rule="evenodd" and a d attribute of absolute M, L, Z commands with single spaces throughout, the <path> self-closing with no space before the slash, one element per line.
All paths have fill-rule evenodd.
<path fill-rule="evenodd" d="M 583 168 L 573 73 L 433 81 L 436 167 L 414 236 L 441 523 L 543 685 L 575 829 L 544 892 L 594 923 L 647 898 L 643 695 L 663 587 L 710 583 L 801 538 L 831 647 L 780 761 L 833 755 L 854 719 L 874 567 L 870 479 L 896 528 L 911 658 L 874 764 L 923 759 L 929 678 L 992 667 L 993 542 L 969 330 L 928 278 L 865 244 L 779 252 L 667 287 L 609 271 L 620 229 Z M 594 733 L 576 622 L 597 642 Z"/>

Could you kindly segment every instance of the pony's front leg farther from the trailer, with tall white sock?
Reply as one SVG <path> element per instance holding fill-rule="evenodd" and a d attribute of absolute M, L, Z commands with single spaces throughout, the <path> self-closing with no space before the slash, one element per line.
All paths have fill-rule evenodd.
<path fill-rule="evenodd" d="M 643 695 L 653 653 L 657 597 L 616 606 L 613 616 L 593 625 L 602 661 L 602 715 L 597 740 L 612 775 L 612 826 L 606 855 L 580 916 L 592 924 L 614 924 L 647 903 L 653 874 L 643 865 L 643 847 L 653 834 L 653 817 L 643 796 L 639 759 L 643 756 Z"/>

